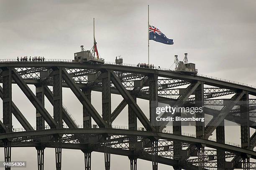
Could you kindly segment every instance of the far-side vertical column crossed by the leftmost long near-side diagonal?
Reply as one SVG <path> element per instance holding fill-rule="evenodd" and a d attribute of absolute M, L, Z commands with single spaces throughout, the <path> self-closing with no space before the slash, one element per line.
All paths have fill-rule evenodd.
<path fill-rule="evenodd" d="M 36 97 L 38 100 L 44 105 L 44 85 L 38 84 L 36 85 Z M 41 114 L 36 110 L 36 130 L 42 130 L 45 127 L 44 118 Z"/>

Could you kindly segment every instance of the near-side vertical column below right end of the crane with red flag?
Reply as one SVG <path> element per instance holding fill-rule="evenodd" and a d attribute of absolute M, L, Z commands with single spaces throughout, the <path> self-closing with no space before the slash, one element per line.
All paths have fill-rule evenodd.
<path fill-rule="evenodd" d="M 102 118 L 107 126 L 111 128 L 111 91 L 110 91 L 110 70 L 102 72 Z M 104 155 L 105 170 L 110 170 L 110 136 L 106 137 Z"/>

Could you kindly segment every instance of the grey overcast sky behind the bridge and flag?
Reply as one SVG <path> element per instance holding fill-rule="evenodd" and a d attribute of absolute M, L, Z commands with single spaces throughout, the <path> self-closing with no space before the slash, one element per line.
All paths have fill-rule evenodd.
<path fill-rule="evenodd" d="M 98 50 L 105 61 L 114 61 L 115 56 L 121 55 L 125 63 L 147 62 L 147 5 L 150 5 L 150 24 L 174 39 L 174 45 L 150 41 L 152 64 L 174 69 L 171 67 L 174 55 L 183 60 L 187 52 L 189 62 L 194 62 L 201 74 L 256 86 L 255 0 L 0 0 L 0 59 L 24 55 L 73 59 L 80 45 L 91 49 L 95 18 Z M 26 97 L 16 85 L 13 90 L 16 92 L 13 100 L 24 115 L 30 116 L 28 119 L 34 126 L 34 108 L 26 103 Z M 99 112 L 100 97 L 100 93 L 93 93 L 92 102 Z M 78 100 L 70 90 L 64 90 L 63 98 L 82 124 L 82 106 Z M 121 97 L 114 96 L 114 99 L 113 109 Z M 145 101 L 138 102 L 147 112 Z M 46 108 L 52 110 L 47 102 Z M 127 124 L 126 119 L 121 117 L 115 124 Z M 13 149 L 12 156 L 13 160 L 26 159 L 29 164 L 26 170 L 36 168 L 34 148 Z M 103 156 L 94 153 L 93 169 L 103 169 Z M 112 170 L 120 169 L 116 161 L 124 164 L 123 170 L 129 169 L 128 158 L 112 158 Z M 45 169 L 52 169 L 53 149 L 46 150 L 45 159 Z M 64 150 L 63 170 L 74 167 L 70 161 L 80 167 L 77 169 L 83 169 L 81 151 Z M 139 161 L 138 169 L 141 168 L 151 168 L 151 163 Z"/>

